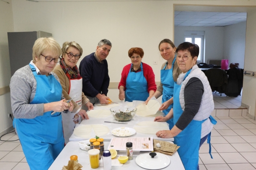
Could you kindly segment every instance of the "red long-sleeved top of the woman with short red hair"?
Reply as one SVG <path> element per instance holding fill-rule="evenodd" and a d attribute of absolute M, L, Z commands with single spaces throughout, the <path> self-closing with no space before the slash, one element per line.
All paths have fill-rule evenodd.
<path fill-rule="evenodd" d="M 155 92 L 157 90 L 157 85 L 155 82 L 155 76 L 154 76 L 153 69 L 149 65 L 147 65 L 143 62 L 142 62 L 142 67 L 143 67 L 143 75 L 144 75 L 146 81 L 148 82 L 148 93 L 151 90 Z M 119 82 L 118 89 L 119 89 L 120 85 L 126 87 L 126 79 L 128 77 L 130 70 L 131 70 L 131 64 L 125 65 L 125 67 L 122 70 L 122 74 L 121 74 L 122 77 Z"/>

